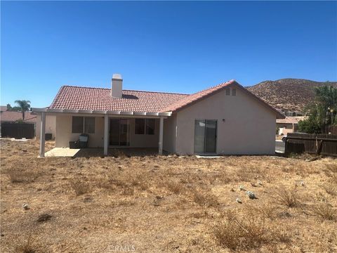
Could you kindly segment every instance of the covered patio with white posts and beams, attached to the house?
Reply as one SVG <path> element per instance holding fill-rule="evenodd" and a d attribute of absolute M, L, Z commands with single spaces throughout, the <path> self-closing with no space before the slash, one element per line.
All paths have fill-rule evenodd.
<path fill-rule="evenodd" d="M 41 116 L 41 122 L 38 122 L 38 124 L 40 124 L 39 157 L 76 157 L 77 155 L 108 156 L 114 155 L 114 153 L 116 153 L 116 150 L 123 150 L 126 153 L 140 153 L 140 151 L 143 150 L 143 152 L 147 154 L 149 154 L 149 151 L 151 151 L 150 153 L 153 154 L 154 151 L 154 153 L 162 155 L 164 119 L 171 115 L 171 112 L 122 112 L 97 110 L 64 110 L 53 108 L 33 108 L 32 110 L 34 114 Z M 45 152 L 46 115 L 56 116 L 55 148 L 48 151 L 47 153 Z M 72 126 L 74 117 L 95 118 L 95 133 L 91 134 L 91 137 L 89 137 L 89 139 L 91 138 L 93 140 L 93 146 L 85 149 L 69 148 L 69 142 L 74 141 L 74 138 L 78 138 L 79 136 L 79 134 L 73 134 L 72 132 L 72 127 L 74 127 Z M 115 135 L 116 132 L 117 136 L 119 134 L 119 130 L 115 131 L 112 128 L 112 122 L 114 122 L 115 119 L 129 119 L 130 121 L 133 120 L 133 122 L 136 122 L 136 119 L 154 119 L 157 122 L 156 125 L 158 125 L 158 129 L 156 130 L 156 134 L 153 133 L 150 137 L 147 137 L 145 135 L 133 136 L 134 138 L 131 138 L 131 141 L 126 142 L 126 145 L 122 145 L 121 142 L 119 142 L 118 145 L 115 145 L 115 143 L 112 143 L 112 135 Z M 133 128 L 135 127 L 134 123 L 132 126 Z M 130 125 L 126 125 L 124 129 L 128 131 L 127 134 L 129 135 L 128 138 L 130 139 Z M 131 135 L 133 134 L 135 134 L 134 129 L 132 129 L 131 131 Z M 154 149 L 152 147 L 149 147 L 147 143 L 147 138 L 151 138 L 152 142 L 155 138 L 157 141 L 155 141 L 154 143 L 158 148 Z M 60 142 L 60 140 L 62 142 Z M 136 142 L 138 146 L 140 145 L 140 147 L 135 146 Z M 87 155 L 85 155 L 85 153 L 87 153 Z"/>

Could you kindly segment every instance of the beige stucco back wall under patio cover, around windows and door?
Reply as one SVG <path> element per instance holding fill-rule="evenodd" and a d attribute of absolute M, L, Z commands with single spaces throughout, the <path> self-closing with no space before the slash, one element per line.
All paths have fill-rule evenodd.
<path fill-rule="evenodd" d="M 78 116 L 78 115 L 77 115 Z M 90 115 L 92 117 L 92 115 Z M 70 141 L 77 141 L 80 134 L 72 134 L 72 115 L 56 116 L 55 147 L 69 147 Z M 102 148 L 104 138 L 104 117 L 95 117 L 95 134 L 89 134 L 88 146 Z M 156 148 L 159 141 L 159 119 L 155 120 L 154 135 L 135 134 L 135 118 L 130 119 L 130 147 Z"/>

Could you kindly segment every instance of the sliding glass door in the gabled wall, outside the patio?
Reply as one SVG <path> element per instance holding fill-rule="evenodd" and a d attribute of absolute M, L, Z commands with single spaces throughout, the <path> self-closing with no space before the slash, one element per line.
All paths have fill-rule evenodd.
<path fill-rule="evenodd" d="M 216 153 L 216 120 L 195 120 L 194 153 Z"/>

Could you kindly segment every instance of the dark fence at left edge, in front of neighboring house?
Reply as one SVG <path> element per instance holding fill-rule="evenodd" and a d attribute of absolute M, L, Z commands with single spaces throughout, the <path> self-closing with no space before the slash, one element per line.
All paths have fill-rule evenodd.
<path fill-rule="evenodd" d="M 1 137 L 34 138 L 34 123 L 1 123 Z"/>

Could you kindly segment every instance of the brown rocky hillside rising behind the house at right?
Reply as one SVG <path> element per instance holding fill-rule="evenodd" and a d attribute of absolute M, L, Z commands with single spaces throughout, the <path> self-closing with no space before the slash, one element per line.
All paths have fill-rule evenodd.
<path fill-rule="evenodd" d="M 279 79 L 260 82 L 247 87 L 274 108 L 302 112 L 314 100 L 314 87 L 326 84 L 337 87 L 337 82 L 315 82 L 305 79 Z"/>

